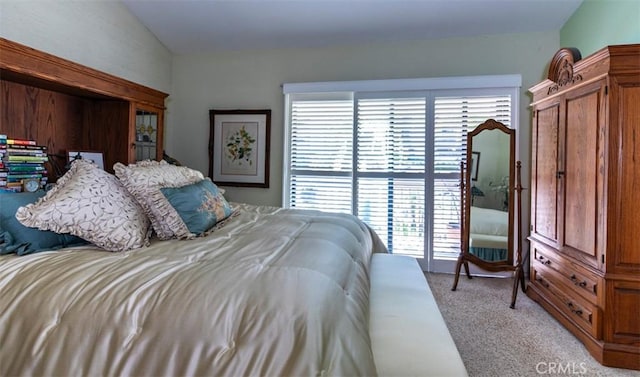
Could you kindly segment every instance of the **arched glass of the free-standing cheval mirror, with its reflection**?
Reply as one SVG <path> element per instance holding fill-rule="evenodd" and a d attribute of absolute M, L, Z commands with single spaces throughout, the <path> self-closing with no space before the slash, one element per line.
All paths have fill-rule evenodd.
<path fill-rule="evenodd" d="M 509 250 L 510 137 L 500 130 L 473 136 L 470 162 L 469 253 L 507 261 Z"/>

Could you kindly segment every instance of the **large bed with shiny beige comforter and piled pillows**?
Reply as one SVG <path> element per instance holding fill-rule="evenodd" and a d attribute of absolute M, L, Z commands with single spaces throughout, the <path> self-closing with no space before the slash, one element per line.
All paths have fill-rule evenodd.
<path fill-rule="evenodd" d="M 115 178 L 84 163 L 70 172 L 15 217 L 62 235 L 73 214 L 65 226 L 92 240 L 0 256 L 0 375 L 466 375 L 415 260 L 387 254 L 357 218 L 225 203 L 224 219 L 196 234 L 161 239 L 143 218 L 148 238 L 119 208 L 127 199 L 103 190 Z M 210 185 L 200 178 L 164 188 Z M 110 236 L 95 234 L 99 221 Z"/>

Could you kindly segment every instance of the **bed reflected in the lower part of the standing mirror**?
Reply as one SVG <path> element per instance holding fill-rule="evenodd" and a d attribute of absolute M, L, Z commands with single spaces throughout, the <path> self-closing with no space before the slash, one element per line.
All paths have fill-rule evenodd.
<path fill-rule="evenodd" d="M 509 213 L 471 207 L 469 253 L 486 261 L 507 260 Z"/>

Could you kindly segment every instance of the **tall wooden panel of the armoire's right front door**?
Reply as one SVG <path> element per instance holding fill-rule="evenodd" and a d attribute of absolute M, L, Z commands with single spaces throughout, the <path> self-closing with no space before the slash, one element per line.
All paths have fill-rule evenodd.
<path fill-rule="evenodd" d="M 563 246 L 578 259 L 597 266 L 601 86 L 566 99 Z"/>

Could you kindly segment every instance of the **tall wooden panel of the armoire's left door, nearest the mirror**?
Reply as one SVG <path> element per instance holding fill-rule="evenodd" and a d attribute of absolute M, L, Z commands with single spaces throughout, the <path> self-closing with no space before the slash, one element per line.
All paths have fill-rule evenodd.
<path fill-rule="evenodd" d="M 536 111 L 533 166 L 533 232 L 558 241 L 558 125 L 559 104 Z"/>

